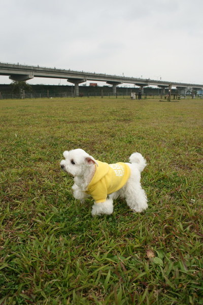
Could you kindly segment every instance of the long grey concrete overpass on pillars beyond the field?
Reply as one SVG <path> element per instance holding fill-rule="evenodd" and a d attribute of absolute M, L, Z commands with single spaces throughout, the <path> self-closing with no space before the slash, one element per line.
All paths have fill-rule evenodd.
<path fill-rule="evenodd" d="M 101 73 L 90 73 L 84 71 L 73 71 L 56 68 L 46 68 L 39 66 L 27 66 L 19 64 L 0 63 L 0 75 L 7 75 L 10 79 L 15 81 L 26 81 L 34 77 L 45 78 L 59 78 L 67 79 L 68 82 L 75 84 L 75 96 L 79 96 L 79 83 L 90 81 L 105 81 L 113 85 L 113 93 L 116 94 L 116 86 L 122 83 L 129 83 L 140 86 L 142 91 L 145 86 L 156 85 L 163 90 L 168 86 L 175 86 L 177 88 L 186 89 L 187 87 L 193 89 L 202 89 L 202 84 L 168 82 L 153 79 L 143 79 L 134 77 L 124 77 L 116 75 L 108 75 Z"/>

